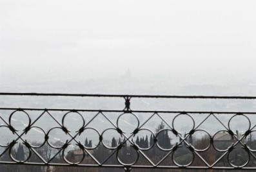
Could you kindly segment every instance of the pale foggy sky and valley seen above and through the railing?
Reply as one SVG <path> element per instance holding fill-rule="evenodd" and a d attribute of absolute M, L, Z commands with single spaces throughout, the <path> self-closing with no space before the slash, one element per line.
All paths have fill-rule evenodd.
<path fill-rule="evenodd" d="M 0 92 L 256 96 L 255 16 L 255 1 L 0 0 Z M 75 135 L 83 128 L 84 120 L 87 128 L 97 128 L 99 134 L 119 126 L 132 133 L 141 125 L 153 132 L 134 134 L 130 139 L 133 142 L 136 137 L 148 141 L 165 128 L 172 147 L 181 141 L 170 128 L 179 113 L 159 113 L 162 119 L 153 116 L 146 121 L 154 111 L 256 112 L 255 99 L 164 98 L 130 99 L 130 110 L 152 111 L 135 113 L 139 123 L 134 116 L 119 118 L 119 112 L 103 112 L 95 119 L 97 112 L 83 112 L 124 110 L 125 106 L 123 98 L 0 95 L 0 108 L 41 108 L 26 111 L 32 122 L 44 108 L 81 110 L 81 116 L 71 112 L 64 122 L 65 111 L 49 110 L 35 123 L 43 130 L 32 128 L 25 136 L 30 144 L 44 142 L 44 134 L 49 132 L 51 144 L 63 145 L 70 137 L 58 128 L 59 124 L 63 122 Z M 0 109 L 0 161 L 5 151 L 3 145 L 17 138 L 5 127 L 12 112 Z M 209 114 L 190 115 L 197 126 Z M 228 126 L 233 115 L 218 117 Z M 255 115 L 248 117 L 254 127 Z M 216 120 L 211 116 L 197 129 L 212 136 L 226 130 Z M 246 120 L 238 117 L 231 122 L 232 130 L 239 131 L 237 137 L 248 130 Z M 24 112 L 15 113 L 10 121 L 19 134 L 29 123 Z M 181 137 L 188 135 L 192 122 L 190 117 L 175 121 Z M 159 126 L 162 128 L 157 131 Z M 54 127 L 57 129 L 51 130 Z M 88 148 L 99 151 L 97 132 L 86 130 L 77 141 L 84 144 L 88 139 L 92 144 Z M 204 132 L 195 132 L 192 138 L 201 145 L 206 136 Z M 116 131 L 103 133 L 104 146 L 113 147 L 113 142 L 118 141 L 123 144 L 124 139 Z M 250 139 L 255 141 L 255 133 Z M 249 142 L 248 138 L 245 141 Z M 151 144 L 148 142 L 144 148 Z M 68 157 L 74 149 L 77 144 L 72 141 L 63 154 Z"/>

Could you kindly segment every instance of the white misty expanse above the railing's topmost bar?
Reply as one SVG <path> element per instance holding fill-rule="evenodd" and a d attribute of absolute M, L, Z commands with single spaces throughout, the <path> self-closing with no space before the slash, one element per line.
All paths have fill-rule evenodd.
<path fill-rule="evenodd" d="M 254 1 L 2 0 L 0 87 L 255 95 L 255 8 Z"/>

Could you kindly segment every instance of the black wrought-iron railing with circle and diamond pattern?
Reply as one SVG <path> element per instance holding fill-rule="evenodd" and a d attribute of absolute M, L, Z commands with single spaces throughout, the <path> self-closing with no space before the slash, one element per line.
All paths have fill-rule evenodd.
<path fill-rule="evenodd" d="M 1 171 L 256 170 L 256 97 L 0 95 Z M 124 107 L 6 107 L 6 96 L 47 96 L 46 101 L 49 96 L 123 98 Z M 239 105 L 233 102 L 216 107 L 221 110 L 212 106 L 203 111 L 133 110 L 132 99 L 228 99 L 253 103 L 248 112 L 225 111 Z"/>

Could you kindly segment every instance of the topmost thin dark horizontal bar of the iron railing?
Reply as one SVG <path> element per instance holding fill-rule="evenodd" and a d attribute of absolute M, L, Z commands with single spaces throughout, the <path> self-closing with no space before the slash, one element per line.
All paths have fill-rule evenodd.
<path fill-rule="evenodd" d="M 75 96 L 109 98 L 182 98 L 182 99 L 256 99 L 256 96 L 163 96 L 163 95 L 128 95 L 128 94 L 63 94 L 35 92 L 0 92 L 1 96 Z"/>

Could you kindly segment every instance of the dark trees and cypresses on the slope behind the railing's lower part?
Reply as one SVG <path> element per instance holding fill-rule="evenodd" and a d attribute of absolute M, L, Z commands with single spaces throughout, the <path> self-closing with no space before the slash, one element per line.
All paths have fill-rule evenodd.
<path fill-rule="evenodd" d="M 157 135 L 157 142 L 159 144 L 159 146 L 161 146 L 161 148 L 164 149 L 170 149 L 173 147 L 172 145 L 172 138 L 170 137 L 170 135 L 168 134 L 168 130 L 163 130 L 165 129 L 165 125 L 163 122 L 161 122 L 157 128 L 155 128 L 155 135 Z M 161 131 L 161 132 L 160 132 Z M 159 133 L 160 132 L 160 133 Z M 192 137 L 188 139 L 189 142 L 192 142 Z M 148 135 L 144 135 L 144 136 L 139 136 L 137 135 L 136 139 L 135 139 L 135 144 L 137 146 L 139 146 L 139 148 L 150 148 L 150 150 L 145 150 L 143 151 L 143 153 L 150 158 L 150 160 L 152 160 L 152 162 L 154 162 L 155 164 L 157 164 L 157 162 L 159 162 L 165 155 L 166 153 L 168 153 L 168 151 L 163 151 L 160 150 L 154 143 L 154 138 L 153 135 L 150 135 L 150 137 L 148 137 Z M 207 145 L 210 143 L 210 139 L 206 138 L 206 137 L 202 137 L 201 139 L 195 139 L 195 141 L 193 141 L 193 146 L 195 148 L 206 148 Z M 54 142 L 52 143 L 53 145 L 57 146 L 57 145 L 61 145 L 63 143 L 61 142 Z M 85 139 L 84 141 L 84 146 L 86 146 L 86 148 L 92 148 L 93 146 L 93 142 L 92 140 L 89 139 Z M 227 142 L 218 142 L 218 146 L 227 146 L 228 143 Z M 256 141 L 252 141 L 250 140 L 250 142 L 246 142 L 246 144 L 248 146 L 250 146 L 251 149 L 256 150 Z M 34 142 L 33 145 L 41 145 L 39 142 Z M 108 148 L 105 148 L 105 146 L 103 145 L 103 143 L 101 142 L 97 148 L 92 150 L 92 155 L 95 157 L 95 159 L 97 159 L 97 161 L 99 163 L 103 163 L 104 164 L 119 164 L 117 158 L 116 158 L 116 153 L 118 152 L 118 157 L 119 160 L 121 160 L 121 162 L 124 162 L 126 164 L 130 164 L 133 161 L 135 161 L 137 159 L 137 151 L 134 150 L 134 148 L 132 148 L 132 145 L 130 142 L 126 141 L 125 139 L 123 139 L 123 141 L 121 140 L 121 137 L 119 137 L 118 139 L 116 139 L 115 137 L 113 137 L 109 143 L 109 146 L 111 146 L 112 148 L 116 148 L 113 150 L 110 150 Z M 121 149 L 119 150 L 119 148 L 117 148 L 119 145 L 121 145 Z M 237 164 L 241 165 L 242 163 L 246 162 L 247 160 L 247 154 L 244 151 L 244 149 L 239 149 L 239 146 L 236 146 L 237 148 L 235 148 L 235 150 L 233 150 L 233 153 L 230 154 L 229 160 L 231 163 L 233 164 Z M 117 151 L 118 150 L 118 151 Z M 50 145 L 47 144 L 47 142 L 41 146 L 41 148 L 35 148 L 35 151 L 37 151 L 37 153 L 39 155 L 41 155 L 41 157 L 43 157 L 43 159 L 45 159 L 46 161 L 52 159 L 52 155 L 54 155 L 55 153 L 57 153 L 58 149 L 52 148 Z M 115 151 L 115 152 L 114 152 Z M 72 152 L 72 151 L 70 151 Z M 176 162 L 178 162 L 179 164 L 188 164 L 190 162 L 190 160 L 192 160 L 192 156 L 191 156 L 191 151 L 188 149 L 188 146 L 186 144 L 181 144 L 181 147 L 178 148 L 177 151 L 175 151 L 175 153 L 173 153 L 173 159 L 175 159 Z M 210 148 L 206 151 L 203 151 L 200 153 L 200 155 L 210 164 L 215 162 L 215 160 L 218 160 L 222 153 L 219 151 L 216 151 L 213 146 L 211 145 Z M 81 159 L 81 157 L 76 157 L 77 155 L 73 155 L 73 156 L 69 156 L 69 154 L 67 153 L 67 155 L 64 155 L 64 157 L 66 157 L 66 159 L 70 160 L 70 162 L 76 162 L 76 160 Z M 28 157 L 28 151 L 26 146 L 24 146 L 23 144 L 19 143 L 17 144 L 17 147 L 13 147 L 12 148 L 12 157 L 14 157 L 14 159 L 23 161 L 26 160 Z M 10 156 L 8 154 L 8 151 L 6 151 L 6 153 L 0 158 L 1 161 L 12 161 L 10 159 Z M 32 152 L 30 159 L 28 159 L 28 162 L 42 162 L 39 157 L 37 157 L 37 155 L 35 155 L 34 152 Z M 55 163 L 66 163 L 63 160 L 63 152 L 59 152 L 57 154 L 57 156 L 54 157 L 54 159 L 51 162 L 55 162 Z M 256 160 L 251 158 L 250 162 L 248 163 L 248 167 L 255 167 L 256 166 Z M 85 157 L 83 159 L 83 161 L 81 162 L 81 164 L 95 164 L 96 162 L 94 161 L 94 159 L 92 159 L 88 154 L 85 154 Z M 240 164 L 239 164 L 240 163 Z M 149 165 L 148 161 L 146 159 L 143 158 L 143 155 L 139 156 L 139 159 L 137 160 L 137 164 L 139 165 Z M 172 156 L 168 156 L 165 160 L 163 160 L 161 162 L 162 166 L 175 166 L 175 164 L 173 164 L 172 162 Z M 195 156 L 195 159 L 193 161 L 192 166 L 204 166 L 204 162 L 202 162 L 202 160 Z M 219 160 L 219 162 L 217 163 L 217 166 L 228 166 L 228 160 L 227 160 L 227 156 L 223 157 L 221 160 Z M 78 168 L 78 167 L 70 167 L 70 166 L 54 166 L 54 167 L 49 167 L 49 166 L 24 166 L 24 165 L 1 165 L 0 166 L 0 171 L 28 171 L 28 172 L 34 172 L 34 171 L 42 171 L 42 172 L 48 172 L 52 170 L 53 172 L 57 172 L 57 171 L 76 171 L 76 172 L 84 172 L 84 171 L 92 171 L 92 172 L 115 172 L 115 171 L 121 171 L 121 169 L 119 168 Z M 133 169 L 133 171 L 139 171 L 139 172 L 143 172 L 143 171 L 148 171 L 148 169 Z M 150 169 L 150 171 L 158 171 L 157 169 Z M 163 169 L 161 171 L 182 171 L 182 169 Z M 195 171 L 195 170 L 191 170 L 191 171 Z M 204 171 L 204 170 L 196 170 L 196 171 Z"/>

